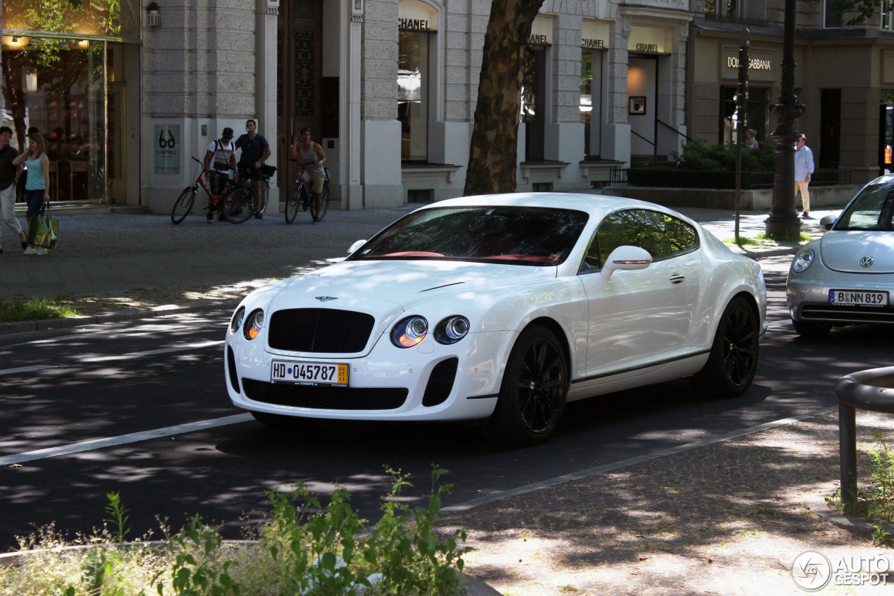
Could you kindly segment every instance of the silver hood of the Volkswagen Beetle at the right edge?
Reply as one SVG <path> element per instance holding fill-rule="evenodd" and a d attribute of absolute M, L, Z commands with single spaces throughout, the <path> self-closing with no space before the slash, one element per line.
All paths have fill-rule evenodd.
<path fill-rule="evenodd" d="M 820 241 L 822 263 L 846 273 L 894 273 L 894 232 L 827 232 Z M 860 264 L 871 257 L 873 264 Z M 865 262 L 865 261 L 864 261 Z"/>

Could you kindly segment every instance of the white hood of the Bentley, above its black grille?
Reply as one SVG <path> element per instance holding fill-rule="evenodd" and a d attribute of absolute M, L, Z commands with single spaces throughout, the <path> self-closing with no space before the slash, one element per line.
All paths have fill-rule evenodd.
<path fill-rule="evenodd" d="M 344 261 L 295 277 L 272 300 L 287 308 L 356 310 L 375 315 L 406 311 L 420 302 L 501 285 L 556 277 L 555 267 L 443 260 Z"/>

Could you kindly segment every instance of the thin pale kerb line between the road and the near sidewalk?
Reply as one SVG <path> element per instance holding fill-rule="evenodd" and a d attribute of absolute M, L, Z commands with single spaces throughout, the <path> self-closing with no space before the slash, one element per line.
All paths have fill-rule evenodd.
<path fill-rule="evenodd" d="M 579 470 L 578 472 L 572 472 L 569 474 L 565 474 L 564 476 L 558 476 L 549 480 L 534 482 L 532 484 L 526 484 L 525 486 L 519 486 L 515 489 L 502 490 L 501 492 L 495 492 L 492 495 L 486 495 L 485 497 L 473 498 L 472 500 L 466 501 L 465 503 L 460 503 L 459 505 L 442 507 L 441 511 L 443 513 L 457 513 L 460 511 L 467 511 L 468 509 L 471 509 L 473 507 L 485 505 L 486 503 L 493 503 L 494 501 L 499 501 L 503 498 L 524 495 L 529 492 L 534 492 L 535 490 L 542 490 L 551 486 L 556 486 L 557 484 L 564 484 L 566 482 L 590 478 L 591 476 L 595 476 L 597 474 L 611 472 L 612 470 L 618 470 L 620 468 L 626 468 L 628 465 L 642 464 L 643 462 L 648 462 L 660 457 L 673 456 L 678 453 L 688 451 L 689 449 L 695 449 L 696 447 L 704 447 L 705 445 L 721 443 L 722 441 L 730 440 L 730 438 L 745 437 L 746 435 L 755 434 L 755 432 L 775 429 L 780 426 L 785 426 L 786 424 L 791 424 L 792 422 L 802 421 L 808 418 L 813 418 L 814 416 L 820 416 L 822 414 L 832 412 L 838 412 L 837 405 L 832 408 L 824 408 L 822 410 L 816 410 L 815 412 L 800 414 L 797 416 L 790 416 L 789 418 L 783 418 L 777 421 L 766 422 L 765 424 L 760 424 L 758 426 L 753 426 L 747 429 L 731 430 L 730 432 L 723 433 L 722 435 L 717 435 L 716 437 L 702 438 L 692 443 L 687 443 L 686 445 L 659 449 L 658 451 L 653 451 L 652 453 L 645 454 L 643 456 L 628 457 L 628 459 L 622 459 L 619 462 L 599 465 L 595 468 L 588 468 L 586 470 Z"/>

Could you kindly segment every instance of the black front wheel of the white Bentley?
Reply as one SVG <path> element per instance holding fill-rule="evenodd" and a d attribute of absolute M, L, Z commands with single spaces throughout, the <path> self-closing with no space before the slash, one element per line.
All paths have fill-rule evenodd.
<path fill-rule="evenodd" d="M 568 362 L 555 334 L 539 325 L 526 328 L 506 362 L 485 434 L 517 445 L 545 443 L 559 425 L 568 387 Z"/>

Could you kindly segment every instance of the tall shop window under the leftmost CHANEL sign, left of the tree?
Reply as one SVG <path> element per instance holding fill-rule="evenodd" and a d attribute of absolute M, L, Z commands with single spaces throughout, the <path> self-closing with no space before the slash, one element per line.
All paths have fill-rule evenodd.
<path fill-rule="evenodd" d="M 401 121 L 401 160 L 427 161 L 430 44 L 434 34 L 400 32 L 398 58 L 398 120 Z"/>

